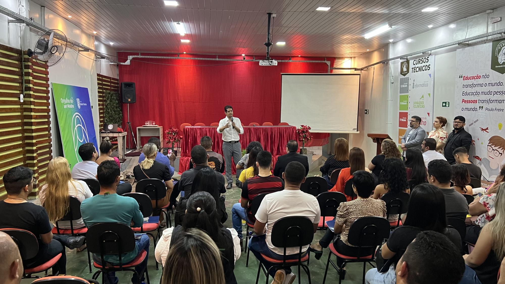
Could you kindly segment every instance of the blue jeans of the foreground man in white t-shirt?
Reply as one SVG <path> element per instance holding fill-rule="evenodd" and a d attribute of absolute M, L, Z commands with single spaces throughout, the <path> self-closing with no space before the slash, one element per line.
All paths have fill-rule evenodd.
<path fill-rule="evenodd" d="M 265 234 L 252 236 L 252 238 L 250 238 L 250 240 L 249 240 L 249 250 L 251 251 L 252 254 L 254 254 L 256 256 L 256 258 L 263 264 L 263 266 L 265 266 L 265 268 L 267 270 L 269 270 L 270 267 L 272 267 L 274 265 L 279 265 L 279 264 L 266 261 L 261 254 L 264 254 L 270 258 L 280 259 L 280 260 L 283 259 L 283 256 L 280 254 L 274 253 L 273 251 L 271 251 L 268 248 L 266 237 L 267 237 L 267 235 L 265 235 Z M 304 257 L 307 252 L 308 252 L 308 250 L 305 253 L 302 253 L 302 257 Z M 298 254 L 286 255 L 286 259 L 298 259 Z M 282 267 L 278 266 L 278 269 L 284 269 L 284 271 L 286 271 L 286 274 L 291 273 L 291 266 L 282 266 Z M 275 272 L 278 269 L 270 269 L 269 270 L 270 276 L 274 277 Z"/>

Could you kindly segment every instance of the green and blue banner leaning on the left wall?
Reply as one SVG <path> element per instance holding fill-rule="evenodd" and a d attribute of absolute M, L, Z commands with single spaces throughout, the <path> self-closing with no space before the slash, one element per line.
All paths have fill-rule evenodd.
<path fill-rule="evenodd" d="M 89 92 L 84 87 L 58 83 L 52 83 L 52 89 L 63 153 L 73 167 L 82 161 L 79 146 L 91 142 L 98 149 Z"/>

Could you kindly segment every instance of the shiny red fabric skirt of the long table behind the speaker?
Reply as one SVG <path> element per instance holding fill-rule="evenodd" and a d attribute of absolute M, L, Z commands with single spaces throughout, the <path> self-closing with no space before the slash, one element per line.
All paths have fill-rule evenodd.
<path fill-rule="evenodd" d="M 296 140 L 296 127 L 294 126 L 243 126 L 244 133 L 240 135 L 242 150 L 251 141 L 259 141 L 263 149 L 272 153 L 273 167 L 277 157 L 286 154 L 286 144 L 289 140 Z M 184 127 L 181 141 L 181 157 L 179 160 L 179 173 L 189 169 L 191 148 L 200 144 L 200 138 L 212 138 L 212 150 L 223 155 L 223 140 L 216 126 L 186 126 Z M 223 156 L 224 158 L 224 156 Z M 232 158 L 232 174 L 235 174 L 235 163 Z"/>

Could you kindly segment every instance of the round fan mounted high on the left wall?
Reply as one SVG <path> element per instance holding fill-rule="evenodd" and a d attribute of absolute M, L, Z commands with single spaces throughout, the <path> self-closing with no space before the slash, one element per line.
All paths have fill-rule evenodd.
<path fill-rule="evenodd" d="M 56 37 L 55 33 L 60 35 Z M 42 34 L 35 42 L 33 50 L 28 49 L 27 55 L 48 66 L 53 66 L 62 60 L 66 51 L 67 37 L 61 30 L 53 29 Z"/>

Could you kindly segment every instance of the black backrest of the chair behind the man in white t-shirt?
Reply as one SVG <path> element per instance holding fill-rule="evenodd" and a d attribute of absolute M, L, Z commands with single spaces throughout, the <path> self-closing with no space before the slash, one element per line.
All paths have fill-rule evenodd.
<path fill-rule="evenodd" d="M 272 245 L 277 248 L 302 247 L 312 243 L 314 225 L 307 217 L 282 217 L 272 228 Z"/>

